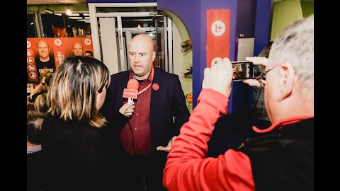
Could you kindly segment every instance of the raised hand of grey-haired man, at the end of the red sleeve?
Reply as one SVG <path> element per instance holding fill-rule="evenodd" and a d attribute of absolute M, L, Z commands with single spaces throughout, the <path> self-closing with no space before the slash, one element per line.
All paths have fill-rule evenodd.
<path fill-rule="evenodd" d="M 232 64 L 228 58 L 204 69 L 202 88 L 210 88 L 229 97 L 232 90 Z"/>

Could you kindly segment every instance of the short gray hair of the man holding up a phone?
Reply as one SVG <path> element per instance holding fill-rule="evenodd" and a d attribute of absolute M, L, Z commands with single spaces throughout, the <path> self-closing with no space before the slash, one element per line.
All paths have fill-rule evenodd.
<path fill-rule="evenodd" d="M 302 93 L 314 100 L 314 15 L 288 25 L 276 38 L 268 67 L 292 64 Z"/>

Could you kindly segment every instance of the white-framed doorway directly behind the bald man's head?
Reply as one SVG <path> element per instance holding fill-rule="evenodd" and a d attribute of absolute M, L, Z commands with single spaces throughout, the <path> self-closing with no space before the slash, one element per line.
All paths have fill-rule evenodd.
<path fill-rule="evenodd" d="M 172 21 L 157 12 L 156 3 L 89 4 L 89 13 L 94 57 L 103 61 L 111 74 L 130 69 L 128 45 L 137 34 L 154 40 L 154 66 L 173 73 Z"/>

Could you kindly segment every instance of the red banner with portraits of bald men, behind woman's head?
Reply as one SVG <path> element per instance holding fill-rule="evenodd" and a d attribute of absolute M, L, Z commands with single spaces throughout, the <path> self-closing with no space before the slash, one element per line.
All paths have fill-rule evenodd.
<path fill-rule="evenodd" d="M 27 38 L 28 81 L 39 82 L 42 70 L 55 69 L 69 56 L 94 52 L 91 37 L 35 37 Z"/>

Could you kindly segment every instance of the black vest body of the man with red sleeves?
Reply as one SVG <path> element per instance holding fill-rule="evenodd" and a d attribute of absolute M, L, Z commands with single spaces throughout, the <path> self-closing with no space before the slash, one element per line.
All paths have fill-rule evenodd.
<path fill-rule="evenodd" d="M 256 190 L 314 190 L 314 118 L 244 142 Z"/>

